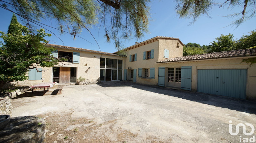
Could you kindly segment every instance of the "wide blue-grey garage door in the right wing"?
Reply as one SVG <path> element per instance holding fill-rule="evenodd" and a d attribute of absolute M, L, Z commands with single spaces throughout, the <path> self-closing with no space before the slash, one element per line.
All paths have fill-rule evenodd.
<path fill-rule="evenodd" d="M 246 69 L 198 69 L 197 91 L 246 98 Z"/>

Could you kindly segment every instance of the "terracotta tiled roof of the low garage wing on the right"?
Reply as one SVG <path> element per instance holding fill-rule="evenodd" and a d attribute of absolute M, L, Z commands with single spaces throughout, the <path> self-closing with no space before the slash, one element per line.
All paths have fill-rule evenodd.
<path fill-rule="evenodd" d="M 241 50 L 187 55 L 183 57 L 176 57 L 176 58 L 158 61 L 156 63 L 192 61 L 192 60 L 202 60 L 202 59 L 232 58 L 232 57 L 247 57 L 247 56 L 255 56 L 255 55 L 256 55 L 256 48 L 253 48 L 253 49 L 241 49 Z"/>

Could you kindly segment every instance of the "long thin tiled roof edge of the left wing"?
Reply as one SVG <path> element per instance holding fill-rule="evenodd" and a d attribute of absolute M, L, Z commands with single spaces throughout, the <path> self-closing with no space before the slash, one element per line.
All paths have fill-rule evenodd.
<path fill-rule="evenodd" d="M 61 45 L 55 45 L 55 44 L 47 44 L 46 46 L 48 46 L 48 47 L 54 47 L 54 48 L 61 48 L 61 49 L 70 49 L 70 50 L 77 50 L 77 51 L 93 52 L 93 53 L 99 53 L 99 54 L 108 54 L 108 55 L 119 56 L 119 55 L 113 54 L 113 53 L 107 53 L 107 52 L 101 52 L 101 51 L 94 51 L 94 50 L 88 50 L 88 49 L 82 49 L 82 48 L 75 48 L 75 47 L 68 47 L 68 46 L 61 46 Z"/>

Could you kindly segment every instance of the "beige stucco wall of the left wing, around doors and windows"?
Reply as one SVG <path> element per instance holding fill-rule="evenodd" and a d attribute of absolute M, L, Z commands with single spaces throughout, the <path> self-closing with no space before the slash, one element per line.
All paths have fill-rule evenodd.
<path fill-rule="evenodd" d="M 100 58 L 110 58 L 110 59 L 119 59 L 124 60 L 125 57 L 119 57 L 114 55 L 107 55 L 107 54 L 99 54 L 99 53 L 92 53 L 92 52 L 84 52 L 78 50 L 68 50 L 68 49 L 58 49 L 58 51 L 66 51 L 66 52 L 80 52 L 80 62 L 79 63 L 68 63 L 63 62 L 63 64 L 59 63 L 59 65 L 55 66 L 63 66 L 63 67 L 77 67 L 76 77 L 79 78 L 82 76 L 86 79 L 94 79 L 99 80 L 100 78 Z M 95 57 L 96 58 L 95 58 Z M 90 68 L 89 68 L 90 67 Z M 123 66 L 124 67 L 124 66 Z M 40 68 L 40 67 L 39 67 Z M 38 84 L 40 82 L 52 82 L 52 70 L 53 68 L 44 67 L 43 70 L 46 72 L 42 72 L 42 80 L 25 80 L 20 81 L 20 84 Z"/>

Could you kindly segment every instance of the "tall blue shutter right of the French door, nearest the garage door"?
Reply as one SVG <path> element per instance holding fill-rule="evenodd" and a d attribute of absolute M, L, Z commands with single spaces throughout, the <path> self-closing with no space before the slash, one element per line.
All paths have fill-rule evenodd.
<path fill-rule="evenodd" d="M 192 66 L 181 67 L 181 89 L 191 90 L 191 72 Z"/>

